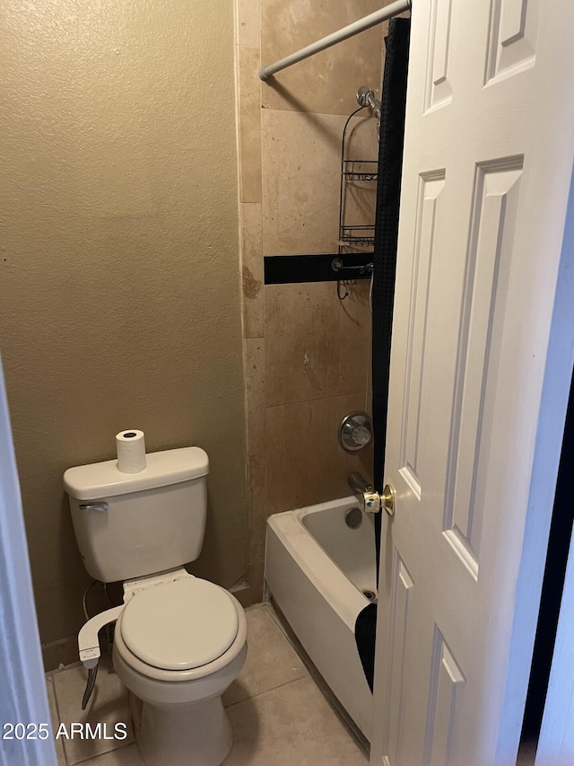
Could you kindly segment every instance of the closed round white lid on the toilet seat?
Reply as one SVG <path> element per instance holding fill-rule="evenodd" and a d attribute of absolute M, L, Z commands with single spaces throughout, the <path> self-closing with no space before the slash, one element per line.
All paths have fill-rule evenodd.
<path fill-rule="evenodd" d="M 239 618 L 223 588 L 188 577 L 135 594 L 120 624 L 126 647 L 147 665 L 190 670 L 229 649 Z"/>

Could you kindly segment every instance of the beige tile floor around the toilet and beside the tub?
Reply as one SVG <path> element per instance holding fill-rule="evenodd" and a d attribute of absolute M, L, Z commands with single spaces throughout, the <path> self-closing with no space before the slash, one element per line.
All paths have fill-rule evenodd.
<path fill-rule="evenodd" d="M 366 766 L 367 755 L 318 690 L 283 635 L 268 604 L 246 610 L 248 659 L 223 695 L 235 735 L 225 766 Z M 60 766 L 143 766 L 129 723 L 127 693 L 108 661 L 100 663 L 88 709 L 81 700 L 86 674 L 81 666 L 47 676 L 52 726 L 69 731 L 72 722 L 128 723 L 124 741 L 57 740 Z M 166 763 L 166 766 L 170 764 Z"/>

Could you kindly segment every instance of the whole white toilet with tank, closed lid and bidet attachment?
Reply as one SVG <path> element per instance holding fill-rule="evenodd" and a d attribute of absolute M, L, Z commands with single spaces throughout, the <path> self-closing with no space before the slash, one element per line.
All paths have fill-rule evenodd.
<path fill-rule="evenodd" d="M 222 693 L 247 656 L 245 612 L 184 568 L 204 542 L 208 471 L 204 450 L 185 447 L 147 454 L 139 473 L 110 460 L 64 474 L 84 567 L 124 585 L 123 607 L 93 618 L 93 634 L 117 620 L 114 667 L 141 700 L 135 738 L 147 766 L 218 766 L 233 741 Z M 82 638 L 80 648 L 90 656 Z"/>

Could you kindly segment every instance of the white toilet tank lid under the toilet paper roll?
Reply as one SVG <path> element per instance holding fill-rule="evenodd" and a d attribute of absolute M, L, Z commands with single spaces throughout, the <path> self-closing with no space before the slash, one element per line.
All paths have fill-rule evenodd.
<path fill-rule="evenodd" d="M 117 470 L 117 460 L 68 468 L 64 473 L 65 491 L 78 500 L 94 500 L 167 487 L 209 473 L 209 458 L 201 447 L 149 453 L 145 462 L 145 468 L 139 473 L 121 473 Z"/>

